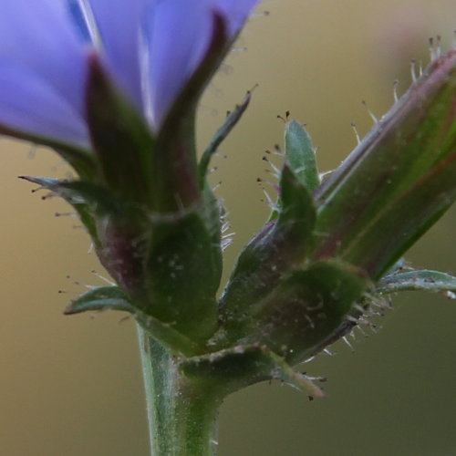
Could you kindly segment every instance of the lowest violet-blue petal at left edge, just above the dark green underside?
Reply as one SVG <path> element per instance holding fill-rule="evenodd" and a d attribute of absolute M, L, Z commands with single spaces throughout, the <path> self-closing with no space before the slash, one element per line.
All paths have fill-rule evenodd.
<path fill-rule="evenodd" d="M 27 67 L 0 62 L 0 128 L 89 150 L 84 119 L 47 80 Z"/>

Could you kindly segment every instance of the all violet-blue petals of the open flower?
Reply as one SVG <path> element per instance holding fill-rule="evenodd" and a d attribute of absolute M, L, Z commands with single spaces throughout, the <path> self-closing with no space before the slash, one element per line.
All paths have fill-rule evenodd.
<path fill-rule="evenodd" d="M 222 58 L 257 3 L 2 0 L 0 132 L 90 150 L 87 83 L 95 55 L 156 133 L 215 37 L 222 32 Z"/>

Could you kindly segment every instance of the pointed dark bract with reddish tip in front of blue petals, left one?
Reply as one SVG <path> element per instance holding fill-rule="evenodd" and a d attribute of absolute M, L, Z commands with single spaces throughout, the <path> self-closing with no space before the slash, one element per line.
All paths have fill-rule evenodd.
<path fill-rule="evenodd" d="M 95 54 L 89 59 L 86 109 L 104 185 L 124 200 L 150 206 L 155 138 L 140 112 L 114 87 Z"/>

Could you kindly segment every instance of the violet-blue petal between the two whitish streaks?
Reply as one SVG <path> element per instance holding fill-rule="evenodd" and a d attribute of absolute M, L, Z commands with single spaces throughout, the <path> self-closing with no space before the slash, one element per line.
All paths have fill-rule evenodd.
<path fill-rule="evenodd" d="M 91 0 L 109 71 L 138 107 L 140 86 L 140 25 L 151 0 Z"/>

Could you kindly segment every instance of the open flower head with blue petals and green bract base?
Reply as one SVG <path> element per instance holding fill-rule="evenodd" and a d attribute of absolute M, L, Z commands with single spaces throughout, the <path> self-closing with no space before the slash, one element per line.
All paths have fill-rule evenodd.
<path fill-rule="evenodd" d="M 196 339 L 222 264 L 196 106 L 257 2 L 2 0 L 0 134 L 72 165 L 74 181 L 28 179 L 75 207 L 135 312 Z"/>

